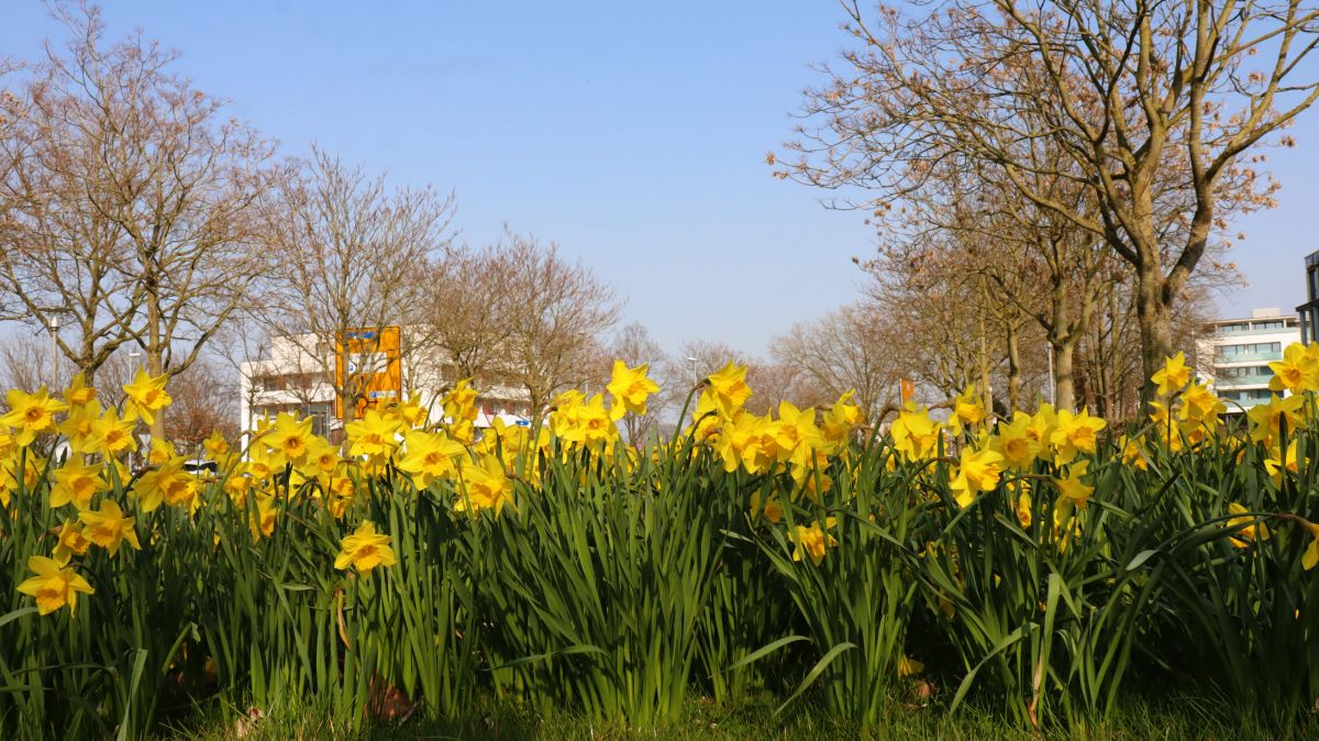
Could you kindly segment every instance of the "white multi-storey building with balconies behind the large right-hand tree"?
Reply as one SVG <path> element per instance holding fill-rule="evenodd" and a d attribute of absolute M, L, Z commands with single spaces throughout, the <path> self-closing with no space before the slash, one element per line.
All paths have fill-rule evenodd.
<path fill-rule="evenodd" d="M 1269 401 L 1269 363 L 1301 340 L 1301 322 L 1277 309 L 1256 309 L 1245 319 L 1216 319 L 1196 338 L 1195 369 L 1228 402 L 1228 414 Z"/>

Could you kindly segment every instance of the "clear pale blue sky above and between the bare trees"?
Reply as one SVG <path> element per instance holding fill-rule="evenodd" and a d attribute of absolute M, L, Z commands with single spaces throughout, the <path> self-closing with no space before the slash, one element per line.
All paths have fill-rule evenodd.
<path fill-rule="evenodd" d="M 37 0 L 5 0 L 0 53 L 62 38 Z M 872 249 L 855 212 L 770 177 L 810 62 L 845 44 L 828 0 L 757 3 L 177 3 L 107 0 L 183 53 L 179 70 L 278 138 L 311 141 L 398 182 L 456 193 L 462 239 L 506 222 L 558 241 L 628 298 L 670 351 L 687 339 L 760 353 L 794 322 L 859 295 Z M 1319 249 L 1319 111 L 1270 153 L 1281 206 L 1242 220 L 1249 286 L 1224 314 L 1303 301 Z"/>

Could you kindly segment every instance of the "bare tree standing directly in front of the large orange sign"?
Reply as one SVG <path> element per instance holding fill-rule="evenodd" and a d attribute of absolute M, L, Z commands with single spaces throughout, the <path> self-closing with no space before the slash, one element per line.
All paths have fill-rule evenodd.
<path fill-rule="evenodd" d="M 398 326 L 422 331 L 427 316 L 425 283 L 430 260 L 451 236 L 452 194 L 430 187 L 389 190 L 384 175 L 313 148 L 295 177 L 280 187 L 266 212 L 269 272 L 264 301 L 252 311 L 272 336 L 289 338 L 298 351 L 284 359 L 332 384 L 344 421 L 365 394 L 363 373 L 343 373 L 342 343 L 348 332 Z M 404 341 L 404 365 L 427 349 Z"/>

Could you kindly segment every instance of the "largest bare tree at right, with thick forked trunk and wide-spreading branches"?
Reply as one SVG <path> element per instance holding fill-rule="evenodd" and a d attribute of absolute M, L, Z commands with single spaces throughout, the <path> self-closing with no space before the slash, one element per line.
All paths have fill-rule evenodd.
<path fill-rule="evenodd" d="M 878 189 L 884 210 L 950 153 L 977 162 L 1132 265 L 1146 377 L 1215 231 L 1273 204 L 1260 146 L 1290 144 L 1278 134 L 1319 96 L 1306 63 L 1319 9 L 1301 0 L 958 0 L 914 18 L 844 8 L 863 47 L 809 94 L 820 125 L 799 131 L 801 158 L 781 174 Z M 1045 140 L 1067 167 L 1030 157 Z M 1093 198 L 1054 199 L 1039 175 Z"/>

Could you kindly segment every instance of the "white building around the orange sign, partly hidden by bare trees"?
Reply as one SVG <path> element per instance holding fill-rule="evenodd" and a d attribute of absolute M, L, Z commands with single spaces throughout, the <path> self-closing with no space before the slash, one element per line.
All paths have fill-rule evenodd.
<path fill-rule="evenodd" d="M 244 363 L 239 400 L 244 430 L 256 429 L 257 419 L 281 411 L 311 417 L 313 430 L 338 440 L 343 423 L 335 414 L 334 345 L 315 335 L 274 338 L 265 360 Z M 419 392 L 421 403 L 430 409 L 430 422 L 445 419 L 441 394 L 456 381 L 458 370 L 442 351 L 415 351 L 402 360 L 402 396 Z M 476 427 L 491 427 L 496 418 L 505 425 L 528 425 L 530 405 L 526 389 L 500 384 L 476 384 L 479 415 Z M 392 392 L 390 392 L 392 394 Z"/>

